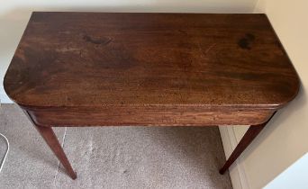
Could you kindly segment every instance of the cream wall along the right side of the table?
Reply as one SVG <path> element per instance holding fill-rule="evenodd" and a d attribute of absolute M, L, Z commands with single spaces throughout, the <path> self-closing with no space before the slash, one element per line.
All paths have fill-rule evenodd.
<path fill-rule="evenodd" d="M 231 177 L 238 177 L 240 169 L 245 173 L 247 187 L 261 188 L 308 152 L 308 1 L 260 0 L 255 12 L 267 14 L 302 80 L 295 100 L 276 113 L 239 164 L 231 168 Z M 247 127 L 234 127 L 233 138 L 239 141 L 246 130 Z M 228 147 L 227 137 L 223 140 L 224 147 Z"/>

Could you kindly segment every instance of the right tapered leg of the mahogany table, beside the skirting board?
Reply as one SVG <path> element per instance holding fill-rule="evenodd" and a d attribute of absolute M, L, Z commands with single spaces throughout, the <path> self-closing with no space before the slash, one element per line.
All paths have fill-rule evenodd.
<path fill-rule="evenodd" d="M 271 118 L 274 116 L 275 112 L 273 115 L 268 119 L 268 121 L 271 120 Z M 240 154 L 249 146 L 251 141 L 255 139 L 258 136 L 258 133 L 265 128 L 267 125 L 267 122 L 264 122 L 262 124 L 258 125 L 251 125 L 249 127 L 249 130 L 246 131 L 245 135 L 243 136 L 242 139 L 240 139 L 240 143 L 238 146 L 233 150 L 231 156 L 228 158 L 226 163 L 222 166 L 222 168 L 219 170 L 220 174 L 224 174 L 226 170 L 233 164 L 233 162 L 240 157 Z"/>

